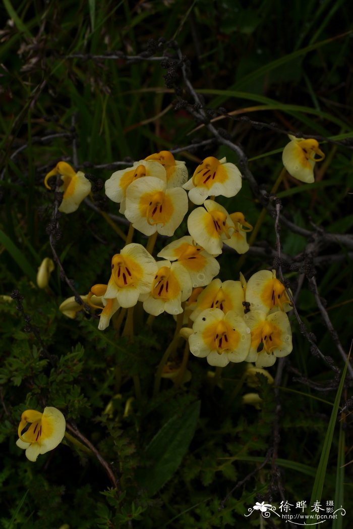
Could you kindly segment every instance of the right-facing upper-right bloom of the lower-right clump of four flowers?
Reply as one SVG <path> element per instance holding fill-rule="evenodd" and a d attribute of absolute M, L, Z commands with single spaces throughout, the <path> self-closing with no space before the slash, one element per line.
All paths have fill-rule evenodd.
<path fill-rule="evenodd" d="M 250 308 L 268 313 L 281 310 L 289 312 L 292 309 L 285 286 L 276 279 L 275 270 L 260 270 L 254 273 L 247 282 L 245 300 Z"/>

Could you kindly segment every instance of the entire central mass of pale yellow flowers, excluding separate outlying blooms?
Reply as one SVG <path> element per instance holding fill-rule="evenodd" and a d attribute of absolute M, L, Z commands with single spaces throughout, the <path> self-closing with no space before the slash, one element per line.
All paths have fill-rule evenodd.
<path fill-rule="evenodd" d="M 131 229 L 149 239 L 146 248 L 130 239 L 113 256 L 106 284 L 94 285 L 82 296 L 101 311 L 98 329 L 105 330 L 119 309 L 141 302 L 152 316 L 183 314 L 181 334 L 191 353 L 206 357 L 212 366 L 247 361 L 262 368 L 289 354 L 292 335 L 286 312 L 291 304 L 275 271 L 261 270 L 247 283 L 243 275 L 239 281 L 215 279 L 224 244 L 239 254 L 249 248 L 246 234 L 252 225 L 243 213 L 229 214 L 215 200 L 234 196 L 240 188 L 240 171 L 225 158 L 206 158 L 189 180 L 185 163 L 168 151 L 114 172 L 106 181 L 106 195 L 120 204 Z M 174 234 L 188 212 L 188 198 L 197 206 L 187 219 L 189 234 L 166 244 L 156 260 L 157 233 Z M 81 308 L 75 298 L 60 306 L 69 317 Z"/>

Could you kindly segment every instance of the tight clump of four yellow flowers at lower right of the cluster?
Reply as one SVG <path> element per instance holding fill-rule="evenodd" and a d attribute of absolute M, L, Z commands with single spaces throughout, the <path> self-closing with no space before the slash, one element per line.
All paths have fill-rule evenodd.
<path fill-rule="evenodd" d="M 199 294 L 190 320 L 183 329 L 190 351 L 206 357 L 211 366 L 229 362 L 255 362 L 257 368 L 272 366 L 277 357 L 292 351 L 292 333 L 284 311 L 291 309 L 285 287 L 275 271 L 261 270 L 246 284 L 214 279 Z M 245 313 L 245 306 L 250 309 Z"/>

